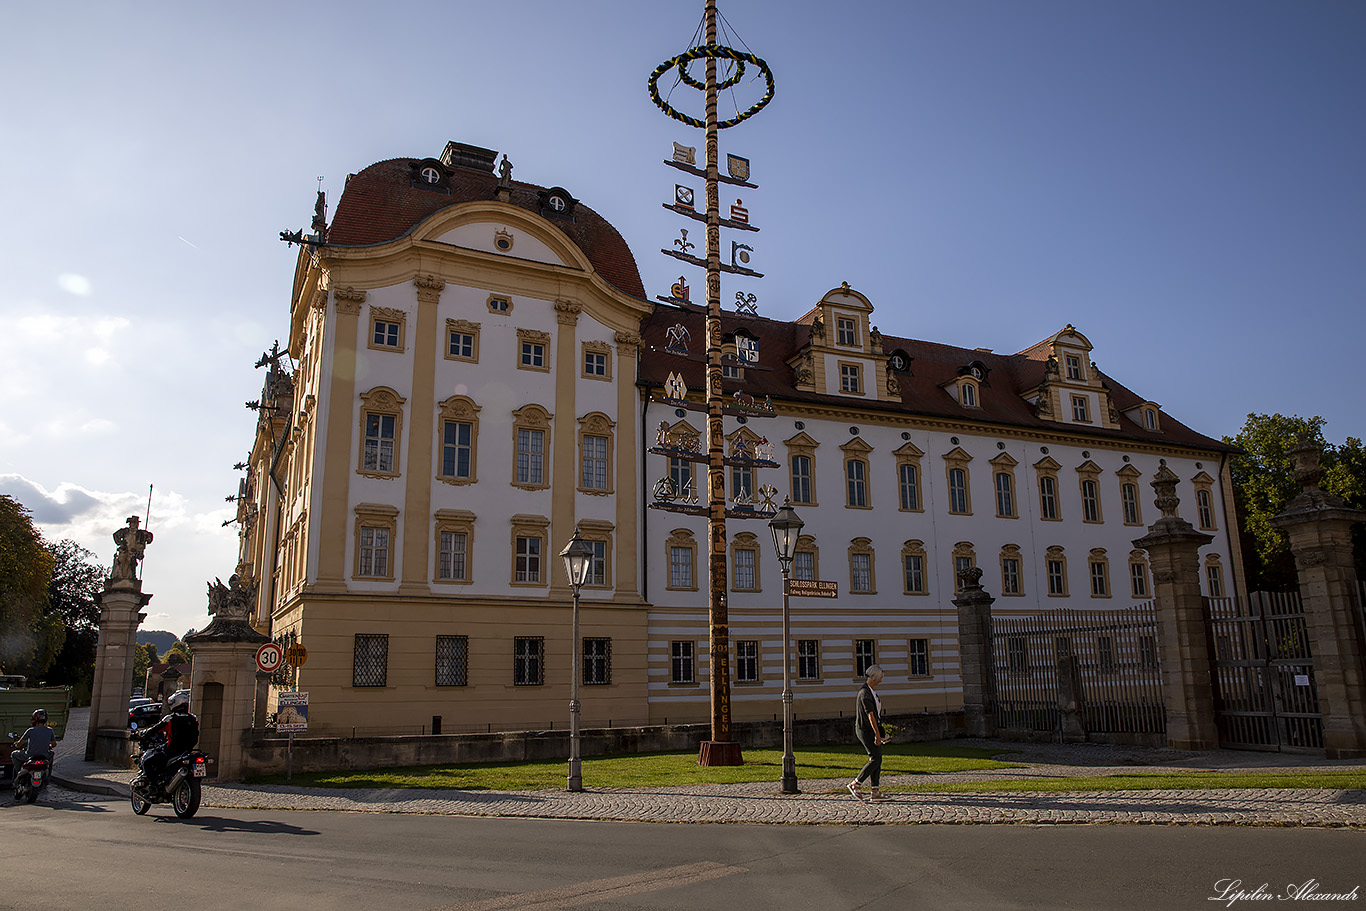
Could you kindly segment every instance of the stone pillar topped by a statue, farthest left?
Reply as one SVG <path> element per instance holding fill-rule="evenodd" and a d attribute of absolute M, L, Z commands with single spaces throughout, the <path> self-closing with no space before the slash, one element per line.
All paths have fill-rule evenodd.
<path fill-rule="evenodd" d="M 138 643 L 138 624 L 146 617 L 142 608 L 152 600 L 142 593 L 138 561 L 152 533 L 138 527 L 138 516 L 128 516 L 127 527 L 113 533 L 119 545 L 113 571 L 96 595 L 100 605 L 100 638 L 94 653 L 94 683 L 90 688 L 90 728 L 86 732 L 85 758 L 113 765 L 128 765 L 128 697 L 133 694 L 133 651 Z M 98 748 L 100 731 L 117 736 Z"/>

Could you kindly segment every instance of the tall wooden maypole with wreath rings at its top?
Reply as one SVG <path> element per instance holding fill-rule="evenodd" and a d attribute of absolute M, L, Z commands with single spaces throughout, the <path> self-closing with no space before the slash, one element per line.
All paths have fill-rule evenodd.
<path fill-rule="evenodd" d="M 740 746 L 731 733 L 731 675 L 729 675 L 729 620 L 727 611 L 727 534 L 725 534 L 725 433 L 723 415 L 725 399 L 721 389 L 721 272 L 734 272 L 759 277 L 759 273 L 731 264 L 721 265 L 721 199 L 720 183 L 723 180 L 719 168 L 717 134 L 758 113 L 773 98 L 773 74 L 768 64 L 751 53 L 743 53 L 734 48 L 721 46 L 716 41 L 716 0 L 706 0 L 706 44 L 661 63 L 650 74 L 650 98 L 667 115 L 691 127 L 701 127 L 705 131 L 706 167 L 702 172 L 706 180 L 706 516 L 708 516 L 708 626 L 710 645 L 710 716 L 712 739 L 702 744 L 698 762 L 702 765 L 740 765 Z M 698 82 L 690 76 L 687 67 L 693 60 L 706 60 L 706 81 Z M 725 81 L 717 79 L 717 61 L 731 61 L 731 74 Z M 729 120 L 717 117 L 717 96 L 723 89 L 735 86 L 744 74 L 744 64 L 758 67 L 765 79 L 764 97 L 747 111 L 736 113 Z M 706 97 L 706 119 L 697 120 L 679 113 L 660 97 L 658 79 L 672 68 L 678 68 L 679 79 L 694 87 L 702 89 Z M 743 160 L 742 160 L 743 161 Z M 672 163 L 671 163 L 672 164 Z M 691 164 L 691 161 L 687 161 Z M 678 165 L 676 165 L 678 167 Z M 684 171 L 695 172 L 694 168 L 683 167 Z M 734 173 L 728 183 L 754 186 L 747 183 L 747 163 L 743 173 Z M 691 205 L 688 206 L 691 208 Z M 728 220 L 734 221 L 734 220 Z M 749 227 L 746 224 L 746 227 Z M 753 228 L 750 228 L 753 229 Z M 683 232 L 683 243 L 679 244 L 682 255 L 669 253 L 679 260 L 697 262 L 695 257 L 687 255 L 687 232 Z M 744 244 L 736 244 L 749 250 Z M 744 255 L 743 261 L 749 261 Z"/>

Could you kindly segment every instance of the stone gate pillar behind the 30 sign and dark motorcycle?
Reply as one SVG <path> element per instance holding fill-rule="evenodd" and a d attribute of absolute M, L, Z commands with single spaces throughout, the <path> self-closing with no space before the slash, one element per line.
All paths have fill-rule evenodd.
<path fill-rule="evenodd" d="M 255 586 L 236 575 L 227 586 L 216 579 L 209 586 L 213 620 L 184 638 L 194 649 L 190 706 L 199 716 L 199 748 L 219 779 L 242 777 L 243 738 L 255 721 L 255 651 L 270 639 L 247 621 L 254 593 Z"/>

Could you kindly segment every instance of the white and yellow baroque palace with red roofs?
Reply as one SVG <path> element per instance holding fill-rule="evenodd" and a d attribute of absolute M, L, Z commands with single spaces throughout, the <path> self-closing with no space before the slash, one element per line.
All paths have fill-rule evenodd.
<path fill-rule="evenodd" d="M 703 307 L 649 300 L 611 224 L 505 161 L 451 142 L 373 164 L 295 238 L 238 519 L 254 626 L 309 650 L 310 733 L 563 718 L 575 530 L 585 724 L 708 718 Z M 727 494 L 755 515 L 728 523 L 736 721 L 781 712 L 784 499 L 806 522 L 792 578 L 839 591 L 792 598 L 799 716 L 848 710 L 874 662 L 893 712 L 960 707 L 966 567 L 997 615 L 1147 601 L 1132 541 L 1164 462 L 1213 535 L 1205 594 L 1233 594 L 1232 449 L 1097 370 L 1070 325 L 1001 355 L 873 310 L 846 284 L 792 322 L 723 321 Z"/>

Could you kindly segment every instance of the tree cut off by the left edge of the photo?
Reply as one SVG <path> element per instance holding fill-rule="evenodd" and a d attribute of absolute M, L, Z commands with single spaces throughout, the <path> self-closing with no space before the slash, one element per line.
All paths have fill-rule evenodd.
<path fill-rule="evenodd" d="M 0 494 L 0 668 L 7 673 L 38 676 L 61 647 L 60 632 L 44 609 L 52 555 L 33 518 L 14 497 Z M 41 665 L 41 667 L 40 667 Z"/>

